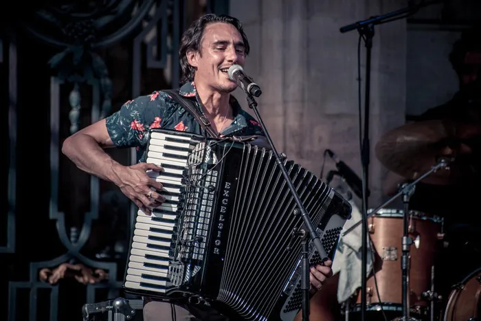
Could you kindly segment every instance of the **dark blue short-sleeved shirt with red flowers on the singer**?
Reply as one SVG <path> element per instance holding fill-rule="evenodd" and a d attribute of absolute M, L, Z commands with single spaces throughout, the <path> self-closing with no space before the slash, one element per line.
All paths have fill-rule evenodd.
<path fill-rule="evenodd" d="M 184 84 L 179 93 L 192 99 L 201 110 L 194 82 Z M 222 131 L 221 136 L 264 135 L 260 124 L 240 108 L 234 96 L 231 96 L 230 104 L 234 109 L 234 120 Z M 149 129 L 172 129 L 207 136 L 199 122 L 163 91 L 154 91 L 148 96 L 128 100 L 119 111 L 107 117 L 106 121 L 113 144 L 120 148 L 136 147 L 139 162 L 146 161 Z"/>

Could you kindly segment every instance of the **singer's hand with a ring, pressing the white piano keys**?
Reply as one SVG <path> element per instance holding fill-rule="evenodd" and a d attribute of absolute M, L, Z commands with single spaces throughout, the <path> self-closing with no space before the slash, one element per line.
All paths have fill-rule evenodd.
<path fill-rule="evenodd" d="M 114 183 L 120 190 L 146 214 L 150 214 L 150 208 L 156 208 L 166 201 L 165 197 L 159 194 L 162 184 L 151 178 L 147 170 L 160 172 L 164 170 L 160 166 L 150 163 L 138 163 L 132 166 L 115 166 Z"/>

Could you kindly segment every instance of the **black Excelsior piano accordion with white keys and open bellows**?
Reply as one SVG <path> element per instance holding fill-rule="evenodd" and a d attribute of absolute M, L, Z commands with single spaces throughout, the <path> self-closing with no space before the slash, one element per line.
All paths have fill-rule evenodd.
<path fill-rule="evenodd" d="M 231 138 L 150 129 L 148 172 L 166 201 L 138 210 L 124 291 L 211 305 L 243 320 L 293 320 L 302 308 L 303 221 L 271 150 Z M 351 206 L 299 164 L 282 159 L 333 259 Z M 310 242 L 310 263 L 320 263 Z"/>

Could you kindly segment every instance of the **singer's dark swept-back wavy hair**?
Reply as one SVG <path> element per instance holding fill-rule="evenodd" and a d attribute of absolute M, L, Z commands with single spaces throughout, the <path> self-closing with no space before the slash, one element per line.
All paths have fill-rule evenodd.
<path fill-rule="evenodd" d="M 249 54 L 249 41 L 247 41 L 247 36 L 245 35 L 242 24 L 240 21 L 238 21 L 238 19 L 225 14 L 221 14 L 219 16 L 216 14 L 205 14 L 194 21 L 182 34 L 179 48 L 179 60 L 182 72 L 181 82 L 189 82 L 194 80 L 195 68 L 189 64 L 187 53 L 190 51 L 200 53 L 205 26 L 207 26 L 209 23 L 216 22 L 230 23 L 231 25 L 234 25 L 234 27 L 236 27 L 240 33 L 240 36 L 242 36 L 245 55 L 247 56 L 247 54 Z"/>

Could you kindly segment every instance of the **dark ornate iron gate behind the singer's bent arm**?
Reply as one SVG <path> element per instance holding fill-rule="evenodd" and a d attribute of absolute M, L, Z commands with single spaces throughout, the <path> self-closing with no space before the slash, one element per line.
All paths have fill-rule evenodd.
<path fill-rule="evenodd" d="M 0 91 L 8 121 L 2 138 L 8 146 L 2 156 L 8 193 L 0 221 L 0 274 L 6 276 L 0 287 L 8 294 L 2 307 L 8 320 L 81 320 L 83 304 L 122 296 L 132 208 L 115 187 L 74 168 L 61 154 L 61 144 L 118 109 L 122 99 L 179 84 L 178 47 L 186 23 L 205 12 L 227 11 L 226 0 L 71 1 L 37 6 L 1 34 L 0 76 L 8 84 Z M 52 53 L 47 65 L 42 57 Z M 111 61 L 115 54 L 128 55 L 122 60 L 131 79 L 127 85 L 125 77 L 112 76 L 118 67 Z M 25 67 L 30 60 L 47 67 L 36 73 Z M 40 97 L 29 97 L 36 77 L 40 88 L 32 96 Z M 128 90 L 116 90 L 119 83 Z M 42 100 L 46 97 L 49 102 Z M 29 126 L 25 115 L 47 125 Z M 111 155 L 124 164 L 135 162 L 131 151 Z M 45 195 L 48 202 L 41 199 Z M 102 224 L 96 227 L 98 221 L 107 233 Z M 84 284 L 80 272 L 93 281 Z"/>

